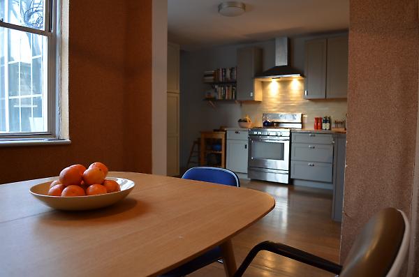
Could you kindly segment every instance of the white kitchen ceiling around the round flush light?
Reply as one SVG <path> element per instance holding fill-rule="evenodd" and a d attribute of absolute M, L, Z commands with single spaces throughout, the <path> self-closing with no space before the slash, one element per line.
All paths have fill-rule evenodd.
<path fill-rule="evenodd" d="M 168 0 L 169 40 L 196 50 L 349 27 L 349 0 L 243 0 L 246 13 L 238 17 L 219 15 L 221 2 Z"/>

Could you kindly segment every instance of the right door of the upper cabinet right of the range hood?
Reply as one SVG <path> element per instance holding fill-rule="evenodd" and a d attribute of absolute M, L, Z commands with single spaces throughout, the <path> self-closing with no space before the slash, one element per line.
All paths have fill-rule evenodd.
<path fill-rule="evenodd" d="M 328 39 L 326 98 L 346 98 L 348 93 L 348 37 Z"/>

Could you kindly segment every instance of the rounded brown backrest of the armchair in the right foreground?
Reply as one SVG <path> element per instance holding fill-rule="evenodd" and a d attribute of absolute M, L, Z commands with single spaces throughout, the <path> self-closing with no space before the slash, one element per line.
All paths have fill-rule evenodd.
<path fill-rule="evenodd" d="M 398 276 L 409 240 L 410 224 L 403 211 L 381 210 L 355 239 L 339 277 Z"/>

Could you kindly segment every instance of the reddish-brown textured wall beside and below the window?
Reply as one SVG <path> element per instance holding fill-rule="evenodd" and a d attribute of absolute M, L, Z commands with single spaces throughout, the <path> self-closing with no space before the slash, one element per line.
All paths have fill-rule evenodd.
<path fill-rule="evenodd" d="M 151 173 L 152 0 L 70 1 L 71 145 L 1 147 L 0 184 L 72 163 Z"/>

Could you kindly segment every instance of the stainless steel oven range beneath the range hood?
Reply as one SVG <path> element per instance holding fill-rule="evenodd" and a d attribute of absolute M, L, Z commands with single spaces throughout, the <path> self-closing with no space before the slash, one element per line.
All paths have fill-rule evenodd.
<path fill-rule="evenodd" d="M 272 118 L 267 127 L 249 130 L 247 174 L 250 179 L 288 184 L 290 128 L 302 128 L 302 114 L 263 114 L 264 120 Z"/>

